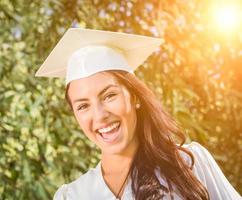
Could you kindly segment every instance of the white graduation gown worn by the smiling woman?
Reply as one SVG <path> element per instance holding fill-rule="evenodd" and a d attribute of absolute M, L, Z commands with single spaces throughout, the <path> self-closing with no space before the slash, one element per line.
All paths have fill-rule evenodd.
<path fill-rule="evenodd" d="M 241 196 L 235 191 L 232 185 L 223 175 L 221 169 L 211 156 L 211 154 L 197 142 L 185 145 L 194 155 L 195 165 L 193 172 L 196 177 L 207 188 L 211 200 L 241 200 Z M 188 160 L 185 153 L 184 159 Z M 167 186 L 164 179 L 156 171 L 156 175 L 161 184 Z M 182 198 L 176 192 L 173 193 L 175 200 Z M 114 194 L 104 182 L 100 162 L 94 169 L 81 175 L 77 180 L 62 185 L 54 195 L 54 200 L 115 200 Z M 134 200 L 131 189 L 131 179 L 126 185 L 122 200 Z M 164 200 L 170 199 L 169 195 Z"/>

